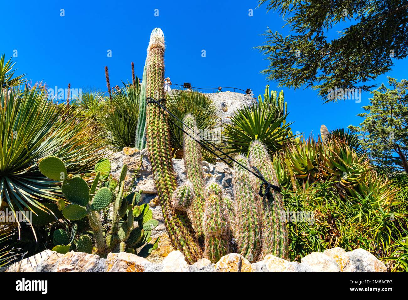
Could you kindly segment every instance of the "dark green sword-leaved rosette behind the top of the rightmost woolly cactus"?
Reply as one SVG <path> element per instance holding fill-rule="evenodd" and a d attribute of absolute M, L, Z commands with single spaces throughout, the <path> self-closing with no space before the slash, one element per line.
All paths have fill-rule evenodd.
<path fill-rule="evenodd" d="M 226 125 L 224 138 L 229 153 L 247 153 L 251 142 L 258 140 L 266 145 L 268 151 L 281 149 L 290 137 L 290 124 L 286 123 L 287 114 L 280 116 L 276 107 L 252 104 L 235 111 L 232 124 Z"/>

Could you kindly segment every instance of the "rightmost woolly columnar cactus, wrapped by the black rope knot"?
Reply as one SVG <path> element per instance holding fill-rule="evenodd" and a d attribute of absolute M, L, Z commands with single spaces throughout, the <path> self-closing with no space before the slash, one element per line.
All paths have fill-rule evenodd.
<path fill-rule="evenodd" d="M 279 186 L 273 162 L 268 154 L 268 150 L 257 140 L 251 143 L 249 148 L 249 160 L 251 166 L 256 167 L 264 176 L 266 181 Z M 255 181 L 255 186 L 259 187 L 261 180 Z M 284 201 L 282 195 L 271 189 L 274 202 L 271 203 L 266 198 L 262 198 L 262 251 L 260 259 L 267 254 L 286 258 L 288 247 L 288 233 L 286 223 L 281 222 L 281 215 L 284 213 Z"/>

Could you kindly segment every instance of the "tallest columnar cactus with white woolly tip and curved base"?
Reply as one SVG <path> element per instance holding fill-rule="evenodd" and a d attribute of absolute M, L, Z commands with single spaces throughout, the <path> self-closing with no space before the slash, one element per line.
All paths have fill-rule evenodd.
<path fill-rule="evenodd" d="M 146 64 L 146 97 L 160 100 L 164 98 L 164 35 L 159 28 L 151 33 Z M 146 124 L 149 157 L 164 223 L 175 249 L 182 251 L 189 262 L 194 262 L 202 257 L 202 251 L 186 227 L 187 216 L 171 207 L 170 198 L 177 182 L 171 160 L 169 127 L 165 112 L 155 103 L 148 104 Z"/>

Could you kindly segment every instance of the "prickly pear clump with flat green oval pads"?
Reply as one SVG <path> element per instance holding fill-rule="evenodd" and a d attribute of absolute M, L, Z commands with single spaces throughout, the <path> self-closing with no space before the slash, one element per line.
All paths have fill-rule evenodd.
<path fill-rule="evenodd" d="M 147 204 L 141 204 L 140 193 L 125 193 L 125 176 L 127 166 L 121 170 L 119 181 L 110 175 L 111 164 L 108 159 L 101 159 L 95 166 L 95 177 L 89 188 L 84 175 L 73 176 L 67 174 L 64 162 L 57 157 L 43 158 L 39 163 L 40 171 L 48 178 L 62 181 L 61 191 L 65 199 L 58 201 L 58 209 L 62 216 L 69 221 L 87 218 L 93 238 L 95 239 L 95 253 L 106 257 L 109 252 L 126 251 L 136 253 L 137 249 L 146 244 L 137 253 L 148 256 L 158 246 L 159 238 L 151 244 L 151 231 L 157 227 L 158 221 L 153 219 L 153 213 Z M 115 191 L 118 188 L 118 193 Z M 70 202 L 66 205 L 65 200 Z M 112 223 L 110 232 L 104 233 L 100 211 L 113 204 Z M 134 227 L 134 222 L 138 227 Z M 64 234 L 65 233 L 65 234 Z M 65 238 L 67 233 L 58 229 L 54 233 L 55 251 L 63 253 L 73 249 L 75 233 L 71 240 Z M 61 238 L 62 237 L 62 238 Z M 81 235 L 76 240 L 77 251 L 90 253 L 89 236 Z"/>

